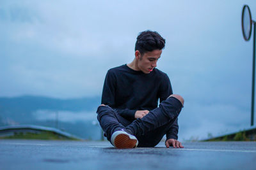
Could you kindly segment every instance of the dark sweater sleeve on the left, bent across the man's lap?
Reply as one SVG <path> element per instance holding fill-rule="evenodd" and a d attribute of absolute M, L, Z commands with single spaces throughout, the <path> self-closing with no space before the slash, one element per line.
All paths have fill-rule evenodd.
<path fill-rule="evenodd" d="M 134 119 L 136 110 L 117 109 L 115 103 L 116 76 L 111 69 L 106 74 L 102 90 L 101 104 L 106 104 L 115 109 L 122 117 Z"/>

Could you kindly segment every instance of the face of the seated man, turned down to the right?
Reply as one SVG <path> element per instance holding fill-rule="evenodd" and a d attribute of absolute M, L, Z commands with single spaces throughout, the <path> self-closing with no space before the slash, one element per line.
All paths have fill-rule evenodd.
<path fill-rule="evenodd" d="M 136 51 L 137 52 L 137 51 Z M 157 60 L 161 57 L 162 50 L 154 50 L 152 52 L 145 52 L 143 55 L 138 51 L 136 59 L 138 60 L 138 68 L 145 74 L 153 71 L 156 67 Z"/>

